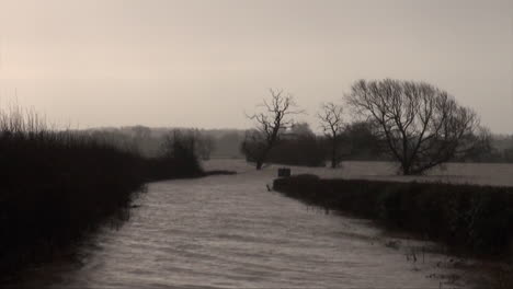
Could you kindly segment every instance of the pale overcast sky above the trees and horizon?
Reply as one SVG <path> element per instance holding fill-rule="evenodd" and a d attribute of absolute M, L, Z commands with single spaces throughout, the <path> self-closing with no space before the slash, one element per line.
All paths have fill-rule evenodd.
<path fill-rule="evenodd" d="M 269 88 L 316 128 L 361 78 L 431 82 L 512 134 L 513 0 L 0 0 L 0 101 L 81 128 L 243 128 Z"/>

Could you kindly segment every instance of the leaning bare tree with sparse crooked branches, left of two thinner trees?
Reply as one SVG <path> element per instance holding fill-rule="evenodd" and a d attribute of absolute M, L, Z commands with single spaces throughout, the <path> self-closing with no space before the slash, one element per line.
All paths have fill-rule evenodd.
<path fill-rule="evenodd" d="M 247 159 L 254 161 L 256 170 L 261 170 L 269 152 L 276 144 L 280 135 L 294 123 L 292 115 L 301 114 L 304 111 L 297 109 L 294 97 L 290 94 L 284 95 L 283 91 L 270 90 L 271 100 L 263 101 L 259 107 L 263 112 L 247 115 L 255 123 L 255 128 L 248 130 L 246 139 L 241 144 L 241 151 Z"/>

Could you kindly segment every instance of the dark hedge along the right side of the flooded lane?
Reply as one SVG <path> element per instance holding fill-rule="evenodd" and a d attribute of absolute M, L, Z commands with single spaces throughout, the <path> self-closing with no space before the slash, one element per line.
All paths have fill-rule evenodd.
<path fill-rule="evenodd" d="M 442 183 L 322 180 L 274 181 L 285 195 L 347 211 L 443 242 L 477 256 L 509 257 L 513 245 L 513 188 Z"/>

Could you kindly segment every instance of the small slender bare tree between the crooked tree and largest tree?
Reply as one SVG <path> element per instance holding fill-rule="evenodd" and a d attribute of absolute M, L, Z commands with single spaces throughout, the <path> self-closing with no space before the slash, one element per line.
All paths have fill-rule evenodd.
<path fill-rule="evenodd" d="M 341 161 L 338 148 L 340 135 L 343 129 L 342 119 L 343 108 L 334 103 L 324 103 L 321 106 L 321 112 L 317 115 L 320 119 L 320 126 L 324 136 L 330 141 L 331 146 L 331 167 L 337 167 Z"/>

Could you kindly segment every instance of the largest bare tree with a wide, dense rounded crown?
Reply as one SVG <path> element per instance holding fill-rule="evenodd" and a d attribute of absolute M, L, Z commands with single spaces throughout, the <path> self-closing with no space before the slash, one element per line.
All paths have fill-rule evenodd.
<path fill-rule="evenodd" d="M 346 95 L 356 113 L 376 122 L 404 175 L 472 151 L 479 118 L 474 111 L 424 82 L 356 81 Z"/>

